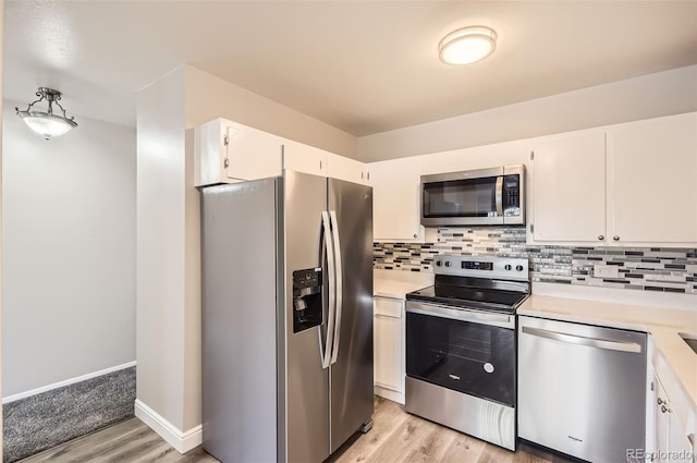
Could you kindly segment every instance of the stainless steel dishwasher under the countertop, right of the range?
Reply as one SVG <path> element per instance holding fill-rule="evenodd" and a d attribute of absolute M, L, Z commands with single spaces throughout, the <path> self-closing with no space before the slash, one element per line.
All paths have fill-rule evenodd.
<path fill-rule="evenodd" d="M 646 448 L 646 333 L 518 317 L 518 437 L 596 463 Z"/>

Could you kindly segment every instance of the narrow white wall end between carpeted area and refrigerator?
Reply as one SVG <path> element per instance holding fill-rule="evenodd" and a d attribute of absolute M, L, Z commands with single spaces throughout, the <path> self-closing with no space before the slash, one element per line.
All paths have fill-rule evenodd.
<path fill-rule="evenodd" d="M 185 425 L 184 382 L 192 376 L 184 365 L 187 185 L 183 68 L 138 94 L 136 127 L 137 400 L 182 431 L 191 427 Z M 195 309 L 200 310 L 200 302 Z"/>

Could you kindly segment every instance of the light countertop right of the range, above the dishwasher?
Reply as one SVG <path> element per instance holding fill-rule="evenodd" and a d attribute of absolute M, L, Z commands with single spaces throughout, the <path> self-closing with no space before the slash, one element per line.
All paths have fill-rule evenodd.
<path fill-rule="evenodd" d="M 693 409 L 697 409 L 697 354 L 678 334 L 697 334 L 697 309 L 531 295 L 518 307 L 517 315 L 650 333 L 655 349 L 660 351 L 672 368 L 684 392 L 692 400 Z"/>

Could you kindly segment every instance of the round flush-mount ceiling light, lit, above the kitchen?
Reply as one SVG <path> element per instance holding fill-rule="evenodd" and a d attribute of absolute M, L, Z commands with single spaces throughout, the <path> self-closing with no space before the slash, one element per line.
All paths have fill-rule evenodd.
<path fill-rule="evenodd" d="M 438 45 L 440 60 L 445 64 L 469 64 L 493 53 L 497 33 L 486 26 L 463 27 L 448 34 Z"/>

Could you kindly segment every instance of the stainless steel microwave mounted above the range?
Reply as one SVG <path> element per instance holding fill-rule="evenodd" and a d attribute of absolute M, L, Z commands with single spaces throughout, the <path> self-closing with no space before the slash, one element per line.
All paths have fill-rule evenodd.
<path fill-rule="evenodd" d="M 525 166 L 421 175 L 421 224 L 525 224 Z"/>

